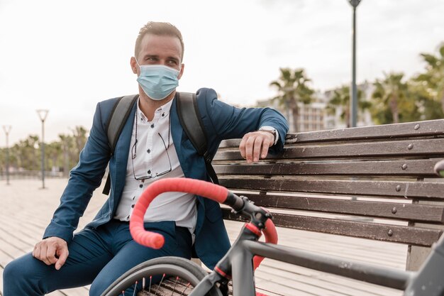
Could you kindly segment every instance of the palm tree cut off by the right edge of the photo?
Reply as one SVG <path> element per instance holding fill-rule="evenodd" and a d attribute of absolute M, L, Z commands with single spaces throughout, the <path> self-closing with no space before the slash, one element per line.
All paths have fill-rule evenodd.
<path fill-rule="evenodd" d="M 418 75 L 416 80 L 424 82 L 430 97 L 439 102 L 444 112 L 444 43 L 440 45 L 439 55 L 421 53 L 426 62 L 426 73 Z"/>

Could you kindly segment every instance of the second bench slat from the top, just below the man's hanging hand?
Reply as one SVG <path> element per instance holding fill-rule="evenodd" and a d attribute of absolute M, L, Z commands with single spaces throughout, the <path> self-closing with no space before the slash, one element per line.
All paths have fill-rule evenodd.
<path fill-rule="evenodd" d="M 335 145 L 287 146 L 279 155 L 268 155 L 267 159 L 301 158 L 365 158 L 383 156 L 444 157 L 444 138 L 426 140 L 348 143 Z M 213 160 L 243 160 L 239 150 L 218 150 Z"/>

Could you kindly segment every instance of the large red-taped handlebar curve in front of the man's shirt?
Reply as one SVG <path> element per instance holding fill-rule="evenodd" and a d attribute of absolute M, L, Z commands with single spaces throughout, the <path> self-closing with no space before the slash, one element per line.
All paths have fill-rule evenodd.
<path fill-rule="evenodd" d="M 140 195 L 135 204 L 130 220 L 130 231 L 133 239 L 143 246 L 150 248 L 162 248 L 165 239 L 162 234 L 145 231 L 143 227 L 143 216 L 148 209 L 152 199 L 164 192 L 187 192 L 213 199 L 216 202 L 225 202 L 228 196 L 226 187 L 215 185 L 201 180 L 180 178 L 166 178 L 152 182 Z"/>

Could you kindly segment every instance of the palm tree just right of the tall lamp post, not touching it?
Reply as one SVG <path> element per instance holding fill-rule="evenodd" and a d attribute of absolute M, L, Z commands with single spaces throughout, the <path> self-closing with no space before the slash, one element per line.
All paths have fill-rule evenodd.
<path fill-rule="evenodd" d="M 399 106 L 408 99 L 404 73 L 384 74 L 384 80 L 374 82 L 372 115 L 378 124 L 399 123 Z"/>

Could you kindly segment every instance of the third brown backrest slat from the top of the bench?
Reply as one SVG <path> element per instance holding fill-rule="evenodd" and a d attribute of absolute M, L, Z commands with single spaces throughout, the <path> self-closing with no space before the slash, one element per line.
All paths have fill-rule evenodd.
<path fill-rule="evenodd" d="M 435 177 L 433 166 L 440 158 L 427 160 L 381 160 L 298 162 L 248 165 L 215 164 L 218 175 L 399 175 Z"/>

